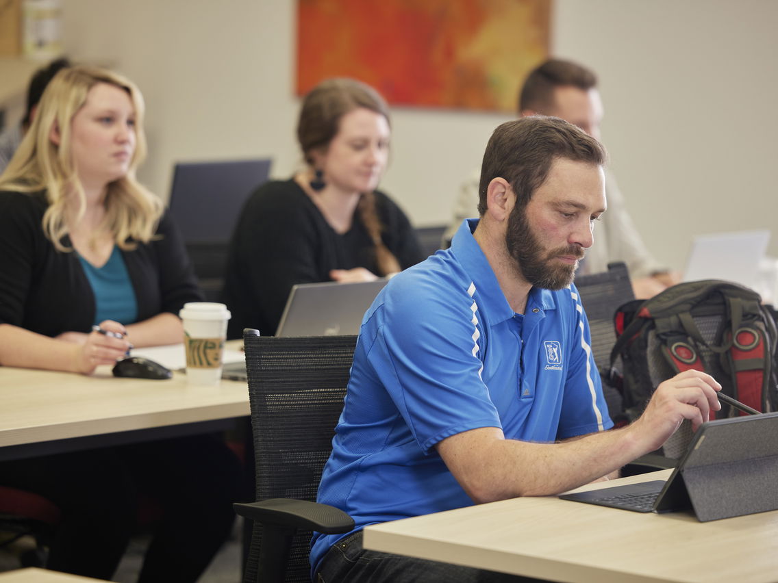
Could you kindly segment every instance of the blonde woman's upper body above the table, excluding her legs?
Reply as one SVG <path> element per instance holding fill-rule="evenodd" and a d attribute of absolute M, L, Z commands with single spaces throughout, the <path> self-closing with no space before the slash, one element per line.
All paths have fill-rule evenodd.
<path fill-rule="evenodd" d="M 135 180 L 142 116 L 138 89 L 99 69 L 65 69 L 44 93 L 0 176 L 0 364 L 89 373 L 130 344 L 180 342 L 177 311 L 201 295 Z"/>

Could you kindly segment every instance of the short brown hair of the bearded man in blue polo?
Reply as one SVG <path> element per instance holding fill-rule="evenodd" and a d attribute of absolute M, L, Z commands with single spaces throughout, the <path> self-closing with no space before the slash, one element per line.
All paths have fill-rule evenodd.
<path fill-rule="evenodd" d="M 559 117 L 520 117 L 499 125 L 484 152 L 478 213 L 485 213 L 486 189 L 498 176 L 510 183 L 517 204 L 526 205 L 557 158 L 602 166 L 608 154 L 599 141 Z"/>

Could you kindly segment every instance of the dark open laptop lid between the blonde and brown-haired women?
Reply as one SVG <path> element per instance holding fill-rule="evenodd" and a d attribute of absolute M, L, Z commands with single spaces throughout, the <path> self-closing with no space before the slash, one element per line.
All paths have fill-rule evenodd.
<path fill-rule="evenodd" d="M 249 194 L 267 182 L 270 162 L 251 159 L 177 163 L 169 207 L 184 243 L 229 243 Z"/>

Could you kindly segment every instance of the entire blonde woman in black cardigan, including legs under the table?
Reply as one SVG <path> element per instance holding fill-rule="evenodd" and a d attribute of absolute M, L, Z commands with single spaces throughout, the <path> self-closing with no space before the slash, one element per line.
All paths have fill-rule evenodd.
<path fill-rule="evenodd" d="M 0 364 L 88 374 L 131 344 L 181 341 L 176 314 L 201 295 L 163 205 L 135 180 L 142 120 L 137 87 L 112 72 L 66 68 L 47 86 L 0 176 Z M 163 510 L 139 581 L 195 581 L 230 532 L 240 473 L 222 442 L 192 436 L 7 462 L 0 484 L 60 508 L 48 568 L 101 579 L 149 492 Z"/>

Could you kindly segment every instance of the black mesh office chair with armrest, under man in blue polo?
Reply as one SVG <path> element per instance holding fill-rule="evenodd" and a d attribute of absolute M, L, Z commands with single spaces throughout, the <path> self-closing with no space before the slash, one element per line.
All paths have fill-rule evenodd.
<path fill-rule="evenodd" d="M 343 409 L 356 336 L 264 337 L 244 330 L 256 497 L 245 583 L 310 581 L 310 531 L 349 532 L 345 512 L 315 503 Z"/>

